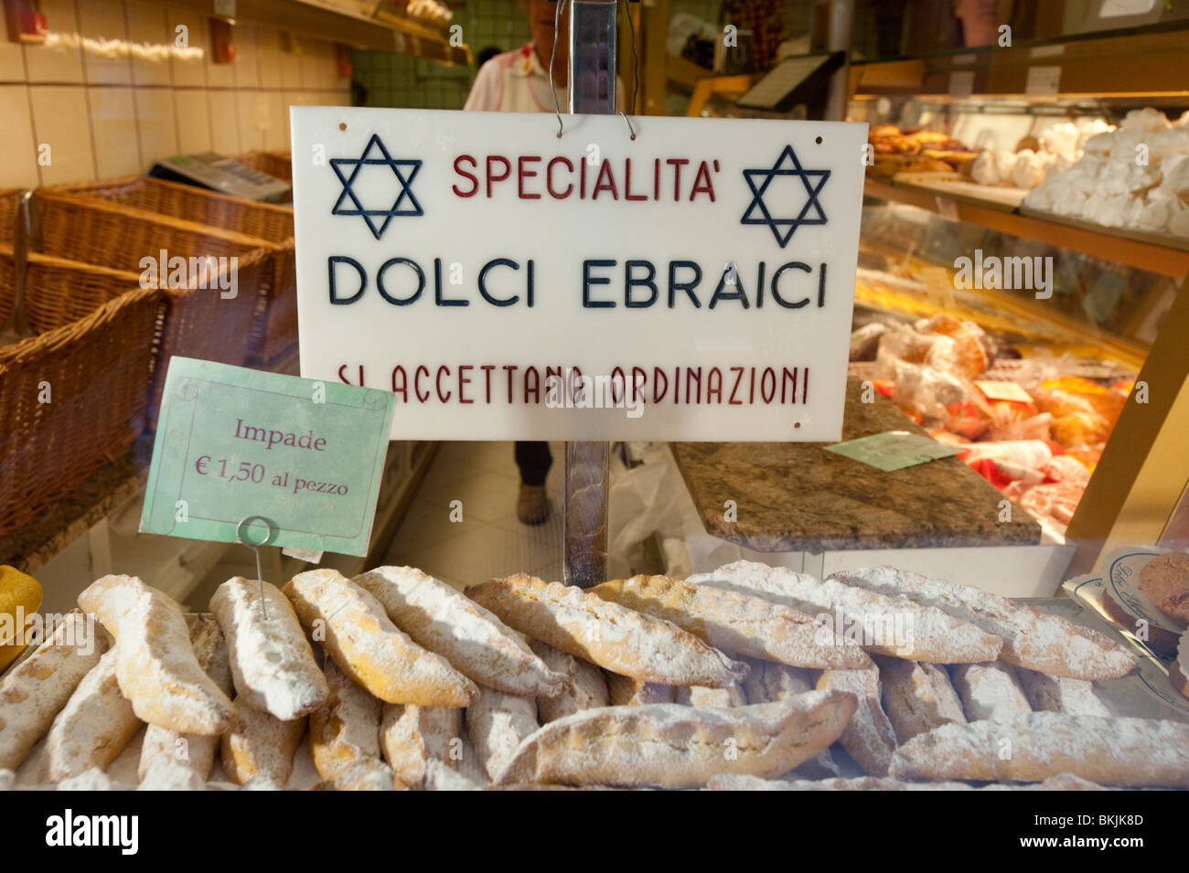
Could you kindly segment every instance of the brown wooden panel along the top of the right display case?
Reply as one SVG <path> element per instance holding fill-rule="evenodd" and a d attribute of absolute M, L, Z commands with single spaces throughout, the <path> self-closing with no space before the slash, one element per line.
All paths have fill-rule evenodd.
<path fill-rule="evenodd" d="M 1075 38 L 1012 49 L 854 63 L 854 97 L 1166 97 L 1189 95 L 1189 30 Z M 1028 87 L 1030 70 L 1061 69 L 1055 93 Z M 957 74 L 957 76 L 955 75 Z M 973 74 L 973 78 L 971 78 Z"/>

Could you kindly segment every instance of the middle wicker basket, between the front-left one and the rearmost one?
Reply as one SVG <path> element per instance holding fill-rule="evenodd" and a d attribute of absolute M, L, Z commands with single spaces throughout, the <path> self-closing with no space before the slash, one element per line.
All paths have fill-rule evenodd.
<path fill-rule="evenodd" d="M 249 362 L 252 330 L 272 286 L 276 247 L 266 247 L 254 236 L 77 195 L 38 191 L 37 204 L 42 251 L 46 254 L 138 276 L 141 259 L 158 259 L 162 251 L 169 257 L 237 259 L 238 290 L 233 298 L 224 299 L 218 283 L 212 281 L 208 287 L 166 289 L 150 425 L 157 420 L 157 398 L 171 356 L 239 366 Z"/>

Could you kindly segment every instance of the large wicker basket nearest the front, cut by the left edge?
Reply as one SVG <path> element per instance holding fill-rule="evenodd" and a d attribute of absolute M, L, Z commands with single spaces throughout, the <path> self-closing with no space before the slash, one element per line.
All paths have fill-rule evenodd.
<path fill-rule="evenodd" d="M 114 461 L 144 430 L 164 295 L 136 273 L 29 255 L 36 336 L 0 347 L 0 537 Z M 12 249 L 0 248 L 11 309 Z M 50 391 L 49 403 L 43 388 Z"/>

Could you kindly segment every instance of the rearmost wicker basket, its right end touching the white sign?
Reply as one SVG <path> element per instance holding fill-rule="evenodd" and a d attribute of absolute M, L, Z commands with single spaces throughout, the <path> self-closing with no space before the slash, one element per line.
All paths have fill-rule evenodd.
<path fill-rule="evenodd" d="M 297 344 L 297 265 L 291 208 L 146 176 L 48 190 L 120 203 L 262 240 L 259 245 L 272 251 L 272 266 L 266 298 L 252 328 L 253 360 L 271 363 Z"/>

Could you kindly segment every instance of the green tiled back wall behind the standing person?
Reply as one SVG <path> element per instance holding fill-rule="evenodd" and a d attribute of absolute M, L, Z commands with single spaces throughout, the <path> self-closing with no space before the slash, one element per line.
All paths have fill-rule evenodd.
<path fill-rule="evenodd" d="M 489 45 L 518 49 L 531 36 L 518 0 L 466 0 L 452 8 L 453 24 L 461 25 L 473 56 Z M 351 63 L 354 78 L 367 89 L 367 106 L 461 109 L 476 74 L 474 65 L 442 67 L 384 51 L 354 51 Z"/>

